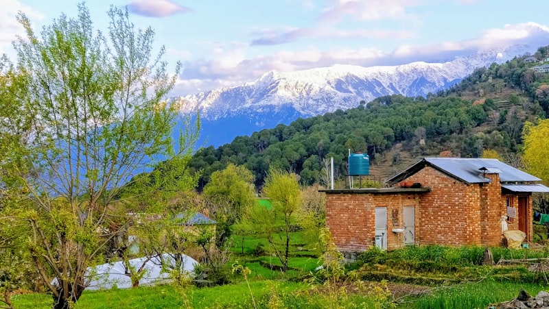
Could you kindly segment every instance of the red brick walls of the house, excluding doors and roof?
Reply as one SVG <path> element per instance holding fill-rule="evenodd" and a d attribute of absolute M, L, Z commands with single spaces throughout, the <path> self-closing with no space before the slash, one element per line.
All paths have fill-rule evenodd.
<path fill-rule="evenodd" d="M 404 236 L 391 232 L 404 228 L 403 207 L 415 207 L 417 245 L 488 245 L 502 244 L 501 216 L 506 214 L 506 196 L 502 196 L 498 174 L 486 174 L 489 184 L 465 184 L 425 166 L 406 180 L 419 182 L 429 193 L 334 193 L 327 194 L 326 225 L 341 251 L 364 251 L 374 245 L 375 207 L 387 208 L 387 249 L 404 245 Z M 517 197 L 511 205 L 517 207 Z M 532 199 L 528 198 L 528 216 L 532 217 Z M 396 210 L 396 211 L 395 211 Z M 394 214 L 394 215 L 393 215 Z M 532 240 L 528 222 L 527 240 Z M 509 230 L 518 229 L 518 218 Z"/>

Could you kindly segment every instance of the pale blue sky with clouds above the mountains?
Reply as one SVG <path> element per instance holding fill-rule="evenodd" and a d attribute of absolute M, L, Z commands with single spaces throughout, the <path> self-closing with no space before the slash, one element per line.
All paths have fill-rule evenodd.
<path fill-rule="evenodd" d="M 62 12 L 75 16 L 79 2 L 0 0 L 0 53 L 13 56 L 16 12 L 39 28 Z M 549 31 L 546 0 L 86 1 L 96 29 L 106 32 L 111 4 L 155 30 L 168 62 L 183 63 L 173 95 L 252 82 L 271 70 L 451 60 Z"/>

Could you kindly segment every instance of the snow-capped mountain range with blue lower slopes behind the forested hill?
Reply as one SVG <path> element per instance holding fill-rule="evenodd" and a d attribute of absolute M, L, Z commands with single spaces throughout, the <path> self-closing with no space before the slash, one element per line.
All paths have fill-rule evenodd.
<path fill-rule="evenodd" d="M 478 67 L 534 53 L 542 45 L 533 42 L 487 48 L 443 63 L 337 64 L 292 73 L 270 71 L 254 82 L 187 95 L 182 112 L 198 108 L 202 145 L 219 146 L 235 136 L 288 124 L 299 117 L 355 108 L 362 100 L 395 94 L 425 96 L 460 82 Z"/>

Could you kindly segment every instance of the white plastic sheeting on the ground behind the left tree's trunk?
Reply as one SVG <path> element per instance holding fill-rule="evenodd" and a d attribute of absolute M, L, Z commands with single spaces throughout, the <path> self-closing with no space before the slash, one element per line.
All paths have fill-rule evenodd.
<path fill-rule="evenodd" d="M 135 258 L 130 260 L 130 265 L 139 269 L 147 258 Z M 169 254 L 163 254 L 163 259 L 169 263 L 168 267 L 174 268 L 174 258 Z M 194 266 L 198 264 L 194 258 L 184 256 L 183 271 L 189 274 L 194 270 Z M 158 256 L 153 257 L 145 264 L 145 275 L 139 280 L 139 285 L 155 285 L 170 280 L 170 273 L 163 271 Z M 100 290 L 117 288 L 131 288 L 132 280 L 128 275 L 125 275 L 124 264 L 122 262 L 114 262 L 108 264 L 89 267 L 86 271 L 88 275 L 93 274 L 92 280 L 86 290 Z"/>

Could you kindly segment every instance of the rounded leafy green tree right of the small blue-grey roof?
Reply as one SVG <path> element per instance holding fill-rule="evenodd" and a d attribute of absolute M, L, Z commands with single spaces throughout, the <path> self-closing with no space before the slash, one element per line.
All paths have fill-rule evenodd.
<path fill-rule="evenodd" d="M 211 174 L 202 194 L 210 199 L 209 214 L 218 222 L 215 236 L 218 247 L 231 236 L 231 225 L 240 221 L 244 210 L 253 204 L 253 180 L 253 174 L 242 165 L 229 164 Z"/>

